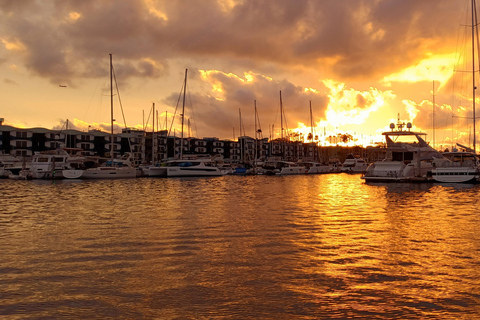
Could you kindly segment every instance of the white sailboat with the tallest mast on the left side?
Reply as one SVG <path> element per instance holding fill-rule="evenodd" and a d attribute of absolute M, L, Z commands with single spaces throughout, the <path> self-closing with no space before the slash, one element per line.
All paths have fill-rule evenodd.
<path fill-rule="evenodd" d="M 110 109 L 111 109 L 111 131 L 110 131 L 110 160 L 104 164 L 88 169 L 68 169 L 62 174 L 67 179 L 119 179 L 136 178 L 137 170 L 131 165 L 128 159 L 114 158 L 114 134 L 113 134 L 113 63 L 110 53 Z"/>

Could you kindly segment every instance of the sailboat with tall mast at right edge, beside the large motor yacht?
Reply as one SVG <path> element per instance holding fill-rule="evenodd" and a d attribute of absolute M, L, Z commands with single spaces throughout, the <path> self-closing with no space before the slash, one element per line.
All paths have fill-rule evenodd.
<path fill-rule="evenodd" d="M 445 183 L 472 183 L 480 179 L 480 160 L 475 148 L 475 46 L 479 39 L 475 38 L 478 34 L 477 15 L 475 0 L 472 0 L 472 109 L 473 109 L 473 149 L 457 143 L 457 146 L 463 151 L 453 150 L 453 152 L 444 152 L 442 155 L 446 158 L 436 162 L 436 168 L 432 170 L 432 178 L 437 182 Z"/>

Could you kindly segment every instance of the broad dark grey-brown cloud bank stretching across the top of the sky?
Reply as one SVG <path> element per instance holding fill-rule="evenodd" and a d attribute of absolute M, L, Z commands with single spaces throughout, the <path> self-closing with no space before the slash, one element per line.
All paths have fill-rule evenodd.
<path fill-rule="evenodd" d="M 96 76 L 92 61 L 106 52 L 132 61 L 150 58 L 159 70 L 179 57 L 278 67 L 320 67 L 330 58 L 336 62 L 325 67 L 343 78 L 392 73 L 429 49 L 441 50 L 455 34 L 445 21 L 459 10 L 450 0 L 245 0 L 229 11 L 213 0 L 152 3 L 166 20 L 140 0 L 1 1 L 0 6 L 4 31 L 26 46 L 26 65 L 49 78 Z M 70 13 L 80 16 L 69 19 Z M 133 65 L 132 76 L 162 75 Z"/>

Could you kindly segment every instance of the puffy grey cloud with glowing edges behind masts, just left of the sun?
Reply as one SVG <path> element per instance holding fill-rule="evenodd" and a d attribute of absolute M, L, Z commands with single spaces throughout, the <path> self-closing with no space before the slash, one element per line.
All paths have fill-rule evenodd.
<path fill-rule="evenodd" d="M 192 73 L 192 71 L 189 72 Z M 290 129 L 297 127 L 298 122 L 307 122 L 309 101 L 314 101 L 316 119 L 319 119 L 319 115 L 323 116 L 326 110 L 327 97 L 325 94 L 319 94 L 312 90 L 306 91 L 286 80 L 274 81 L 252 72 L 245 73 L 243 77 L 217 70 L 197 72 L 201 77 L 198 78 L 194 75 L 194 78 L 208 84 L 210 88 L 206 91 L 207 94 L 200 92 L 188 94 L 185 116 L 192 117 L 193 113 L 198 130 L 208 129 L 209 135 L 215 135 L 216 132 L 216 135 L 232 137 L 234 127 L 237 127 L 237 135 L 240 134 L 238 127 L 240 114 L 242 114 L 244 127 L 242 132 L 245 129 L 247 135 L 253 136 L 255 102 L 259 120 L 264 125 L 263 131 L 268 132 L 268 127 L 271 125 L 280 128 L 280 91 L 282 92 L 285 117 L 292 125 Z M 175 106 L 180 100 L 178 94 L 171 95 L 164 103 Z M 181 110 L 177 113 L 180 114 Z"/>

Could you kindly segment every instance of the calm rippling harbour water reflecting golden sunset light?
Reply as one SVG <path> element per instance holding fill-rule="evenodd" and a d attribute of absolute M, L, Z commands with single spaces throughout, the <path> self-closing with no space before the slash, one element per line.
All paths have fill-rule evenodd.
<path fill-rule="evenodd" d="M 0 181 L 2 319 L 478 319 L 480 186 Z"/>

